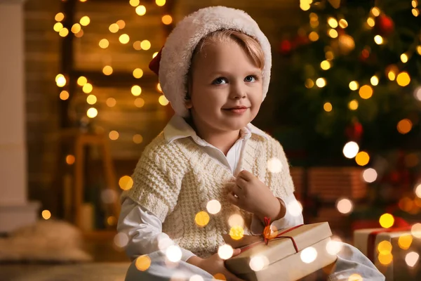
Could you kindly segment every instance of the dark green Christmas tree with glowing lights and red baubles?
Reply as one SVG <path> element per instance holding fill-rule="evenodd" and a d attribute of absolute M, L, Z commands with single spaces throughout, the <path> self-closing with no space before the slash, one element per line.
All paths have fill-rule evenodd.
<path fill-rule="evenodd" d="M 301 0 L 300 8 L 305 23 L 279 46 L 293 85 L 279 118 L 300 129 L 308 164 L 366 166 L 386 150 L 420 148 L 417 1 Z"/>

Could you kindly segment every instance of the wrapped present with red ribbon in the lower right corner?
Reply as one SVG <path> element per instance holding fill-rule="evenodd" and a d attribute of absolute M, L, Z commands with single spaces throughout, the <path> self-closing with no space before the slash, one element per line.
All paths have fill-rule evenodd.
<path fill-rule="evenodd" d="M 410 226 L 354 231 L 354 246 L 372 261 L 387 281 L 421 280 L 421 240 Z"/>

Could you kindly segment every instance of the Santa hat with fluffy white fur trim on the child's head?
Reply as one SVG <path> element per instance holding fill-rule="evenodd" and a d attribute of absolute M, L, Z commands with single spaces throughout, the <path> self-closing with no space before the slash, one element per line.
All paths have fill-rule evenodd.
<path fill-rule="evenodd" d="M 149 68 L 158 74 L 163 95 L 170 101 L 175 114 L 188 117 L 185 107 L 187 94 L 187 72 L 194 49 L 199 41 L 218 30 L 238 30 L 258 40 L 265 53 L 262 70 L 264 100 L 269 88 L 272 54 L 269 40 L 257 22 L 246 12 L 224 6 L 202 8 L 181 20 L 168 36 L 165 45 L 151 61 Z"/>

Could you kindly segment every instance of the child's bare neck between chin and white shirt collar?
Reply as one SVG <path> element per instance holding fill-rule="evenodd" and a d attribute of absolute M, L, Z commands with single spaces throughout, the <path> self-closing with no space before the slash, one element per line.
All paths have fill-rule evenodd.
<path fill-rule="evenodd" d="M 224 153 L 226 156 L 229 149 L 232 148 L 232 145 L 240 138 L 240 130 L 236 131 L 202 131 L 198 129 L 192 119 L 187 120 L 190 126 L 196 131 L 197 136 L 199 136 L 203 141 L 215 146 Z"/>

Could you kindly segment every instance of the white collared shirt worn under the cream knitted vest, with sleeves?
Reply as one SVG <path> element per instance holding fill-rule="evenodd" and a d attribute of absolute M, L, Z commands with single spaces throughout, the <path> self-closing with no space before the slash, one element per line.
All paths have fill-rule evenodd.
<path fill-rule="evenodd" d="M 194 131 L 182 117 L 175 115 L 163 129 L 163 136 L 168 143 L 171 143 L 178 138 L 192 138 L 195 143 L 200 145 L 203 150 L 210 155 L 210 157 L 213 157 L 231 170 L 234 176 L 239 173 L 239 171 L 236 170 L 240 168 L 239 161 L 241 152 L 244 149 L 244 141 L 250 138 L 252 133 L 267 138 L 265 133 L 260 129 L 252 124 L 248 124 L 244 129 L 241 129 L 239 140 L 234 143 L 232 148 L 229 149 L 227 156 L 225 156 L 221 150 L 199 138 L 199 136 L 196 135 L 196 131 Z M 296 199 L 294 195 L 290 195 L 289 197 L 282 198 L 282 200 L 285 202 L 286 207 L 288 207 L 288 204 L 294 202 Z M 276 229 L 283 229 L 298 226 L 302 223 L 302 214 L 300 214 L 300 216 L 292 216 L 287 209 L 286 215 L 278 221 L 274 221 L 272 226 L 275 226 Z M 263 228 L 264 226 L 259 218 L 253 216 L 250 226 L 251 233 L 262 233 Z M 119 233 L 124 233 L 128 236 L 126 254 L 130 256 L 131 259 L 135 259 L 136 256 L 142 254 L 159 251 L 159 239 L 169 239 L 168 235 L 162 233 L 162 223 L 159 218 L 130 198 L 126 198 L 121 204 L 117 230 Z M 187 259 L 192 256 L 194 256 L 194 254 L 191 251 L 182 249 L 182 261 L 187 261 Z"/>

